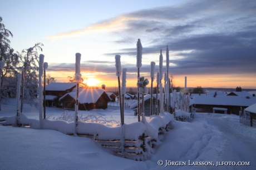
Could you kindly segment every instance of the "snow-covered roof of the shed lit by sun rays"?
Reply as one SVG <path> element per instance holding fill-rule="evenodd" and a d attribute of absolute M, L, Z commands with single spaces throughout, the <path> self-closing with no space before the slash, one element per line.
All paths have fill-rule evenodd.
<path fill-rule="evenodd" d="M 100 96 L 105 92 L 104 89 L 83 89 L 79 92 L 78 102 L 79 103 L 96 103 Z M 61 101 L 65 96 L 71 96 L 76 98 L 76 92 L 70 92 L 62 96 L 59 101 Z"/>

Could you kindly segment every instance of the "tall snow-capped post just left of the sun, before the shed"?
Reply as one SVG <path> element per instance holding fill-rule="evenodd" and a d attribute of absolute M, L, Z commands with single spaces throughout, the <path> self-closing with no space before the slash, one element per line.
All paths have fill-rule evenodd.
<path fill-rule="evenodd" d="M 74 136 L 77 136 L 77 125 L 78 125 L 78 97 L 79 97 L 79 82 L 81 81 L 81 74 L 80 74 L 80 61 L 81 61 L 81 54 L 76 53 L 76 104 L 75 104 L 75 131 Z"/>

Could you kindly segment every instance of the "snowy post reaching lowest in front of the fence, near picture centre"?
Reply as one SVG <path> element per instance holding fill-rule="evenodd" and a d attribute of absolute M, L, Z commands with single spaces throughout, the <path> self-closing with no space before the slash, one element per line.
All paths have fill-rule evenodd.
<path fill-rule="evenodd" d="M 126 72 L 127 69 L 123 68 L 122 69 L 122 90 L 121 90 L 121 94 L 122 94 L 122 117 L 121 117 L 121 139 L 120 139 L 120 143 L 121 143 L 121 154 L 122 157 L 125 157 L 125 125 L 124 125 L 124 117 L 125 117 L 125 93 L 126 93 Z"/>

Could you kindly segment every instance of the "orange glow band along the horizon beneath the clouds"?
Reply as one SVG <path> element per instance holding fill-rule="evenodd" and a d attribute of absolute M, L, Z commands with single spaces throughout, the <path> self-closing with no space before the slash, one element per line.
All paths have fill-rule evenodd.
<path fill-rule="evenodd" d="M 52 77 L 57 79 L 57 82 L 68 82 L 68 76 L 72 76 L 70 72 L 50 72 Z M 90 73 L 88 73 L 90 74 Z M 102 84 L 108 87 L 116 87 L 118 88 L 117 76 L 115 73 L 92 73 L 93 76 L 82 76 L 88 86 L 96 86 L 101 88 Z M 201 86 L 203 88 L 207 87 L 223 87 L 223 88 L 235 88 L 237 86 L 244 88 L 256 88 L 256 77 L 248 74 L 221 74 L 221 75 L 184 75 L 184 76 L 174 76 L 174 85 L 175 87 L 184 88 L 185 86 L 185 76 L 187 77 L 187 87 L 195 88 L 197 86 Z M 151 82 L 151 78 L 147 77 Z M 120 78 L 121 81 L 121 78 Z M 162 83 L 164 81 L 162 80 Z M 137 77 L 136 75 L 127 75 L 126 79 L 126 87 L 136 87 Z M 150 83 L 151 84 L 151 83 Z M 147 86 L 150 88 L 150 84 Z M 153 82 L 153 87 L 156 87 L 156 79 Z"/>

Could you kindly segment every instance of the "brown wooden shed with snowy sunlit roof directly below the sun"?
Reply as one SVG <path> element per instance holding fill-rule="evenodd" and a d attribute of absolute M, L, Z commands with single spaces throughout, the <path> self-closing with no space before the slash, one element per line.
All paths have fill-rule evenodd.
<path fill-rule="evenodd" d="M 76 92 L 62 96 L 59 101 L 63 109 L 75 109 Z M 104 89 L 82 89 L 78 97 L 78 109 L 90 111 L 91 109 L 106 109 L 109 96 Z"/>

